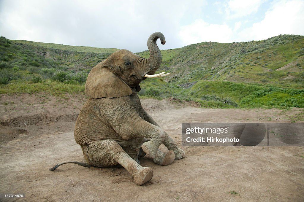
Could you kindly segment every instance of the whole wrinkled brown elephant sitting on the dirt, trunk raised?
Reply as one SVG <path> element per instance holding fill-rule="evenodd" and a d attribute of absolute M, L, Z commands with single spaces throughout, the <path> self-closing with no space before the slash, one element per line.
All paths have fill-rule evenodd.
<path fill-rule="evenodd" d="M 136 184 L 142 185 L 152 178 L 153 170 L 140 166 L 140 157 L 147 154 L 154 163 L 168 165 L 185 156 L 143 109 L 137 95 L 141 80 L 165 75 L 154 74 L 161 65 L 158 38 L 161 44 L 166 42 L 162 33 L 153 33 L 147 42 L 148 59 L 128 50 L 118 50 L 92 68 L 85 84 L 85 94 L 90 98 L 78 115 L 74 131 L 88 163 L 65 163 L 86 167 L 120 164 L 134 177 Z M 169 152 L 159 149 L 161 143 Z"/>

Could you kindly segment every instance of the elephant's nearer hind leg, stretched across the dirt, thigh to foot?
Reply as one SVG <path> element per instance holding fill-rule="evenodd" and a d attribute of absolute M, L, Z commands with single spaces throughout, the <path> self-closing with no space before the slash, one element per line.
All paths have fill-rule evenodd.
<path fill-rule="evenodd" d="M 149 167 L 140 166 L 123 148 L 113 140 L 103 140 L 83 147 L 85 158 L 92 166 L 105 167 L 122 165 L 138 185 L 151 180 L 153 171 Z"/>

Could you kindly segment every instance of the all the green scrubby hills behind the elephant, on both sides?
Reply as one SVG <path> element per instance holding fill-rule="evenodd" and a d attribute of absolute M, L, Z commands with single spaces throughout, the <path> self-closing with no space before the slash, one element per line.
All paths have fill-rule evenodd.
<path fill-rule="evenodd" d="M 83 94 L 89 71 L 117 49 L 0 37 L 0 94 Z M 143 97 L 199 101 L 203 107 L 304 108 L 304 36 L 241 43 L 203 42 L 161 50 L 158 72 Z M 148 51 L 137 53 L 149 57 Z"/>

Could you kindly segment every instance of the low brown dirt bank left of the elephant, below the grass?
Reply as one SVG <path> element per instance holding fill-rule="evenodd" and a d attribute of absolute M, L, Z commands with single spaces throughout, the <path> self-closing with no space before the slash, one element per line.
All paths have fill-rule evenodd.
<path fill-rule="evenodd" d="M 44 93 L 2 95 L 0 125 L 22 127 L 42 122 L 76 121 L 85 101 L 85 96 L 55 98 Z"/>

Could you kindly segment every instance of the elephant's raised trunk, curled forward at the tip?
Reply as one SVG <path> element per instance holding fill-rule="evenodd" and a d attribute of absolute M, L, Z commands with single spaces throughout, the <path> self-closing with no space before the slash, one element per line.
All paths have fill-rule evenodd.
<path fill-rule="evenodd" d="M 161 40 L 161 44 L 166 43 L 164 35 L 160 32 L 155 32 L 150 35 L 147 41 L 147 46 L 150 52 L 150 57 L 146 60 L 149 68 L 147 74 L 154 74 L 154 72 L 161 66 L 161 51 L 159 50 L 156 41 Z"/>

